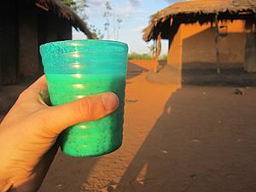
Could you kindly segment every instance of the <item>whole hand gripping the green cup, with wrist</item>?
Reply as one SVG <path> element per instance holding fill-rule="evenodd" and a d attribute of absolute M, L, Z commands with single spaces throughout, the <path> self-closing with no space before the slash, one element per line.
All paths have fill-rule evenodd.
<path fill-rule="evenodd" d="M 0 192 L 34 192 L 44 180 L 68 126 L 112 113 L 119 99 L 111 92 L 49 107 L 46 79 L 24 90 L 0 125 Z"/>

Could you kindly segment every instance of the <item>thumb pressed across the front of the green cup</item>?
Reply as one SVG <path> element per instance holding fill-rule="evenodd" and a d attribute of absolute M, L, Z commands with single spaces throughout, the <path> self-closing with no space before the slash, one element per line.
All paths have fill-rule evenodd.
<path fill-rule="evenodd" d="M 46 119 L 44 128 L 60 134 L 68 126 L 84 121 L 101 119 L 119 106 L 119 98 L 112 92 L 86 96 L 74 102 L 46 108 L 41 117 Z"/>

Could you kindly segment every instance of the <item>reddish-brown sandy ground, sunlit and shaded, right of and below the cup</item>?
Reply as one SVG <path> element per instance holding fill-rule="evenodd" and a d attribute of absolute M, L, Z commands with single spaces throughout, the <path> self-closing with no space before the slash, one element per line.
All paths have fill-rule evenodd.
<path fill-rule="evenodd" d="M 256 88 L 154 84 L 130 64 L 124 143 L 112 154 L 56 154 L 40 192 L 255 192 Z"/>

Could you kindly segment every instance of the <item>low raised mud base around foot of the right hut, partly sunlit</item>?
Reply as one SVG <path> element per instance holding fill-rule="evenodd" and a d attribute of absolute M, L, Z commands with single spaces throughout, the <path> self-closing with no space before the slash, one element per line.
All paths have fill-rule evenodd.
<path fill-rule="evenodd" d="M 166 64 L 159 73 L 148 73 L 149 82 L 158 84 L 194 84 L 194 85 L 231 85 L 255 86 L 256 73 L 247 73 L 241 63 L 223 64 L 221 73 L 217 73 L 214 63 L 184 63 L 182 69 Z"/>

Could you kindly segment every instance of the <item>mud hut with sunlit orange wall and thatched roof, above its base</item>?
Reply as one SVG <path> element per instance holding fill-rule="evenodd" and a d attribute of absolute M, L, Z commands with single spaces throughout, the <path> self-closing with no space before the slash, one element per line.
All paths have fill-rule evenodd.
<path fill-rule="evenodd" d="M 207 63 L 221 67 L 239 64 L 256 72 L 256 0 L 194 0 L 174 3 L 151 16 L 143 40 L 169 42 L 167 64 Z M 157 71 L 158 62 L 154 64 Z"/>

